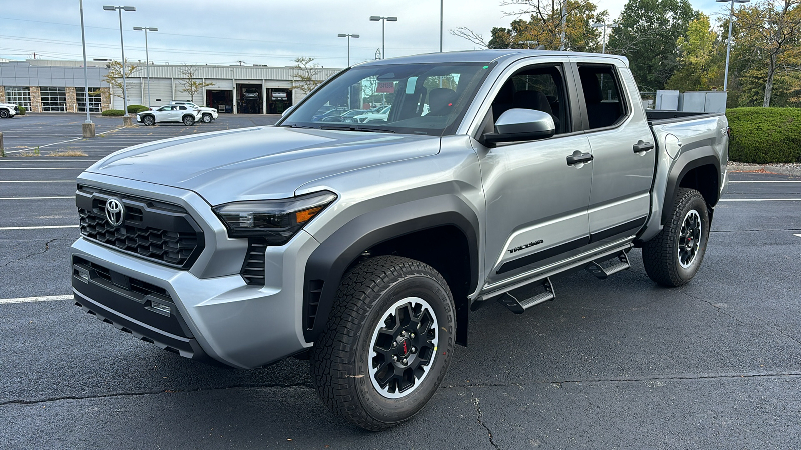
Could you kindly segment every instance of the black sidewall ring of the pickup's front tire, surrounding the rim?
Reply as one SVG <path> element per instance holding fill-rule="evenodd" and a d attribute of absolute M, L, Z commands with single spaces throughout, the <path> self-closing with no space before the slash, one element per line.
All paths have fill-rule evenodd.
<path fill-rule="evenodd" d="M 372 332 L 375 331 L 379 320 L 389 307 L 401 299 L 409 297 L 424 299 L 431 305 L 439 327 L 437 350 L 434 353 L 433 361 L 429 364 L 429 373 L 422 383 L 416 386 L 408 396 L 400 399 L 388 399 L 376 391 L 370 380 Z M 356 361 L 352 364 L 356 373 L 352 374 L 352 378 L 350 378 L 355 381 L 354 388 L 360 397 L 361 404 L 373 419 L 386 424 L 396 424 L 421 411 L 437 392 L 437 388 L 445 377 L 453 352 L 455 328 L 456 315 L 449 291 L 434 279 L 423 275 L 414 275 L 401 279 L 380 295 L 368 313 L 364 327 L 361 327 L 356 346 Z"/>

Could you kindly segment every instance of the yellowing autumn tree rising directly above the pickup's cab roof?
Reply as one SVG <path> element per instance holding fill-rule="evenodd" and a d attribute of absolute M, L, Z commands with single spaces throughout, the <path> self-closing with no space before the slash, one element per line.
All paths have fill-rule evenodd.
<path fill-rule="evenodd" d="M 483 48 L 531 49 L 544 46 L 545 50 L 562 48 L 562 31 L 565 32 L 565 50 L 598 51 L 601 49 L 601 34 L 590 25 L 603 22 L 608 17 L 606 10 L 598 13 L 598 6 L 590 0 L 567 0 L 565 26 L 562 26 L 562 3 L 545 0 L 506 0 L 501 6 L 519 6 L 507 16 L 517 18 L 509 28 L 493 28 L 489 42 L 481 34 L 465 27 L 449 30 L 450 34 L 464 38 Z"/>

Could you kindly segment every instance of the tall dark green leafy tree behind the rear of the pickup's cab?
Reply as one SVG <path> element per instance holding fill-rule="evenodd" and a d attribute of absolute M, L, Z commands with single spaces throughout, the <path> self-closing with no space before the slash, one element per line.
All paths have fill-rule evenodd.
<path fill-rule="evenodd" d="M 640 90 L 660 90 L 678 69 L 678 38 L 698 13 L 687 0 L 629 0 L 612 30 L 607 53 L 629 58 Z"/>

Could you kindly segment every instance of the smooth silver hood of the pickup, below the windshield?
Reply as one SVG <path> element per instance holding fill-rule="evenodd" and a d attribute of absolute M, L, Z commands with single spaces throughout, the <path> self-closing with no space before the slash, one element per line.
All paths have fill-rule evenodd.
<path fill-rule="evenodd" d="M 218 205 L 286 199 L 316 179 L 436 155 L 439 147 L 432 136 L 256 127 L 130 147 L 87 172 L 195 191 Z"/>

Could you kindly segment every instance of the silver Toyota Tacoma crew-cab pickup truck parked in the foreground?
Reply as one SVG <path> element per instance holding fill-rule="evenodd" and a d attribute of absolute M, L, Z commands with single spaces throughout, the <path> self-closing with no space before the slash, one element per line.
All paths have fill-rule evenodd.
<path fill-rule="evenodd" d="M 387 118 L 314 119 L 371 103 Z M 430 400 L 478 307 L 521 313 L 553 300 L 559 275 L 626 270 L 634 248 L 655 283 L 688 283 L 729 134 L 723 114 L 644 110 L 618 56 L 364 63 L 275 127 L 148 143 L 83 172 L 75 303 L 194 360 L 306 358 L 328 407 L 381 430 Z"/>

